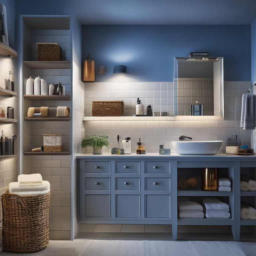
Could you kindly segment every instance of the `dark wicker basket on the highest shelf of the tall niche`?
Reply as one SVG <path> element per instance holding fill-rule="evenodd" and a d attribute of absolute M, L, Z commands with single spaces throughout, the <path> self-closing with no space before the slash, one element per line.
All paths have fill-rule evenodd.
<path fill-rule="evenodd" d="M 37 43 L 38 61 L 63 60 L 62 49 L 57 43 Z"/>

